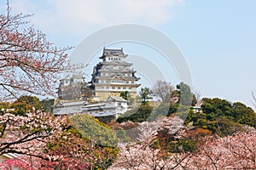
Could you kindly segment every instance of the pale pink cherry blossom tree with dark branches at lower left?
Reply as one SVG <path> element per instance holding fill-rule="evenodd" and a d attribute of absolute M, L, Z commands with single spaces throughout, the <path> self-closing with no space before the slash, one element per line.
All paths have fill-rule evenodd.
<path fill-rule="evenodd" d="M 0 156 L 15 153 L 42 158 L 44 145 L 67 128 L 66 121 L 41 111 L 26 116 L 5 113 L 0 125 Z"/>

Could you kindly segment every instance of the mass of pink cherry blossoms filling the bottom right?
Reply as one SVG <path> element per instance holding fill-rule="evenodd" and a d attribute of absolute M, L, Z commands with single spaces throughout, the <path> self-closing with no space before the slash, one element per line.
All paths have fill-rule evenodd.
<path fill-rule="evenodd" d="M 203 135 L 197 142 L 195 151 L 170 153 L 154 147 L 154 140 L 160 130 L 165 129 L 166 133 L 172 134 L 176 139 L 182 139 L 195 131 L 183 127 L 181 122 L 177 117 L 172 117 L 163 122 L 144 123 L 139 127 L 142 130 L 139 143 L 119 144 L 119 157 L 109 169 L 256 168 L 256 130 L 252 127 L 247 128 L 246 132 L 234 133 L 224 138 Z"/>

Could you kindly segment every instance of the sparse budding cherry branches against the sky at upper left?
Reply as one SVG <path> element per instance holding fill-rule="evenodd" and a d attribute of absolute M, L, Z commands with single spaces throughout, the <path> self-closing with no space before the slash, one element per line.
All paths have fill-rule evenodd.
<path fill-rule="evenodd" d="M 1 2 L 3 3 L 3 2 Z M 20 94 L 54 94 L 56 73 L 64 69 L 65 52 L 42 31 L 26 26 L 29 14 L 0 14 L 0 90 L 2 99 Z"/>

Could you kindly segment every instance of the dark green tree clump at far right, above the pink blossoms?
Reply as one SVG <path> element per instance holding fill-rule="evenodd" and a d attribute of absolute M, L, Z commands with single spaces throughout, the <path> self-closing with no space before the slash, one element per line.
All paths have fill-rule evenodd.
<path fill-rule="evenodd" d="M 231 104 L 225 99 L 202 99 L 202 112 L 190 111 L 186 122 L 211 130 L 218 135 L 229 135 L 243 130 L 242 124 L 256 127 L 256 113 L 240 102 Z"/>

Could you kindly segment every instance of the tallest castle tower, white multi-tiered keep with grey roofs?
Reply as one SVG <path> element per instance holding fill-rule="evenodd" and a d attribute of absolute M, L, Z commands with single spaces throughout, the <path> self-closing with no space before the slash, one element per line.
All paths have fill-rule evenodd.
<path fill-rule="evenodd" d="M 103 49 L 103 54 L 91 75 L 90 88 L 100 100 L 109 96 L 119 96 L 120 92 L 128 91 L 132 98 L 137 96 L 137 88 L 140 79 L 135 76 L 136 71 L 131 68 L 131 63 L 125 61 L 127 54 L 121 49 Z"/>

